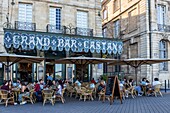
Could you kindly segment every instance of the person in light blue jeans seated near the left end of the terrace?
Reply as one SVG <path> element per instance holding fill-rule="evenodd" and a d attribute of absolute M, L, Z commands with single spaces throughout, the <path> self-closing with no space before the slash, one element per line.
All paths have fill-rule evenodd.
<path fill-rule="evenodd" d="M 22 97 L 23 96 L 29 96 L 29 90 L 28 90 L 28 88 L 27 88 L 27 86 L 26 86 L 26 84 L 24 82 L 21 83 L 21 92 L 20 92 L 20 94 L 18 96 L 18 103 L 20 105 L 23 105 L 23 104 L 27 103 L 26 101 L 22 102 Z"/>

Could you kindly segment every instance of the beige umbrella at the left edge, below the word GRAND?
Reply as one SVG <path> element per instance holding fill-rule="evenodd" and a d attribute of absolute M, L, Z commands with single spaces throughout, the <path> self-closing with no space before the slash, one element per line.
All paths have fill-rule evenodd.
<path fill-rule="evenodd" d="M 42 60 L 44 60 L 44 58 L 36 57 L 36 56 L 24 56 L 24 55 L 16 55 L 16 54 L 8 54 L 8 53 L 0 54 L 0 62 L 2 62 L 7 67 L 7 69 L 9 68 L 9 66 L 11 66 L 17 62 L 39 63 Z M 7 73 L 7 78 L 9 79 L 9 73 Z"/>

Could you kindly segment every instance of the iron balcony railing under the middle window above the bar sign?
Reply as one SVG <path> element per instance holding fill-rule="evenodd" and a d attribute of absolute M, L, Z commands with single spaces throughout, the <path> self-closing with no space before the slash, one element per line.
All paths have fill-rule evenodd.
<path fill-rule="evenodd" d="M 57 29 L 56 25 L 48 24 L 46 29 L 47 29 L 47 32 L 50 32 L 50 33 L 63 33 L 63 27 L 62 26 L 60 27 L 60 29 Z"/>

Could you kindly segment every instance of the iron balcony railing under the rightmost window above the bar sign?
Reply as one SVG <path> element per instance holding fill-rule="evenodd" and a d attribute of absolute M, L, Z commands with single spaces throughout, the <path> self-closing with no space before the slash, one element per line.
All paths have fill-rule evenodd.
<path fill-rule="evenodd" d="M 76 27 L 76 35 L 93 36 L 93 29 Z"/>

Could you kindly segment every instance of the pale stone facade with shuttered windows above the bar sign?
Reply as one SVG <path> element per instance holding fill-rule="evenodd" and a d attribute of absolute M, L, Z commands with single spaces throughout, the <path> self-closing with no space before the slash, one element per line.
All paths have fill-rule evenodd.
<path fill-rule="evenodd" d="M 72 34 L 74 28 L 86 28 L 92 30 L 93 37 L 102 37 L 100 10 L 100 0 L 0 0 L 0 52 L 7 52 L 3 28 L 19 29 L 19 24 L 23 27 L 19 30 L 35 32 L 47 32 L 53 28 L 60 30 L 64 26 Z M 22 22 L 28 22 L 31 27 Z M 37 51 L 37 56 L 41 55 L 44 54 Z M 73 65 L 66 67 L 73 68 Z M 97 69 L 97 65 L 95 67 Z M 67 68 L 65 71 L 68 71 Z M 103 70 L 94 71 L 101 74 Z"/>

